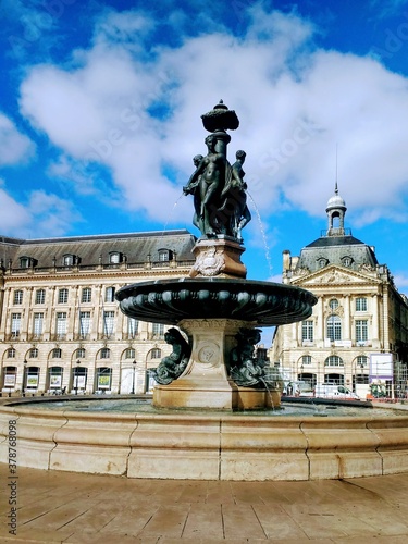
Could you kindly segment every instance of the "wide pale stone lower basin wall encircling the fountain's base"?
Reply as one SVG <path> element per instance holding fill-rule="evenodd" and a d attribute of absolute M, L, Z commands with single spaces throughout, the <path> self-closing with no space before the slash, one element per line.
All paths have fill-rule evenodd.
<path fill-rule="evenodd" d="M 18 406 L 7 400 L 0 406 L 2 462 L 8 462 L 12 424 L 17 433 L 17 465 L 45 470 L 246 481 L 357 478 L 408 470 L 405 412 L 384 416 L 380 409 L 363 408 L 358 417 L 327 418 L 177 410 L 100 413 L 34 409 L 32 400 L 20 400 Z"/>

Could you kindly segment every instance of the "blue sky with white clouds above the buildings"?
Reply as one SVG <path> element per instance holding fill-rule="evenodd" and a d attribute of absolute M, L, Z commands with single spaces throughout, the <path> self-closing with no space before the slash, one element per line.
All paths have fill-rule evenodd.
<path fill-rule="evenodd" d="M 240 126 L 248 276 L 346 226 L 408 292 L 408 1 L 1 0 L 0 234 L 191 225 L 221 98 Z M 336 151 L 337 149 L 337 151 Z M 336 161 L 337 153 L 337 161 Z M 337 162 L 337 169 L 336 169 Z"/>

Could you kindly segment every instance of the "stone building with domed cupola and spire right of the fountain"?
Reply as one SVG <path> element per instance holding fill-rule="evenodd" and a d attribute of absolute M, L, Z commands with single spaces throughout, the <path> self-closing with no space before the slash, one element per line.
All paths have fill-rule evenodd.
<path fill-rule="evenodd" d="M 344 227 L 346 203 L 335 194 L 326 207 L 327 230 L 301 249 L 283 251 L 283 282 L 312 292 L 312 316 L 276 329 L 271 359 L 286 380 L 344 384 L 360 396 L 379 383 L 387 396 L 405 393 L 408 300 L 398 293 L 374 248 Z"/>

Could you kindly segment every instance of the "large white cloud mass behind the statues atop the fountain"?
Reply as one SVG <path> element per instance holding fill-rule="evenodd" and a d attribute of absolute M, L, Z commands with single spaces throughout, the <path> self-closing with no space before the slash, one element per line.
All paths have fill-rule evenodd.
<path fill-rule="evenodd" d="M 338 147 L 341 194 L 360 223 L 405 219 L 407 78 L 369 57 L 316 49 L 313 26 L 294 14 L 249 12 L 245 36 L 220 27 L 154 50 L 152 20 L 107 14 L 112 25 L 99 21 L 92 47 L 69 66 L 30 71 L 21 111 L 85 173 L 108 168 L 126 205 L 154 220 L 168 219 L 191 158 L 205 153 L 200 115 L 220 98 L 240 119 L 230 157 L 247 151 L 264 217 L 287 206 L 321 215 Z M 187 220 L 191 202 L 177 210 Z"/>

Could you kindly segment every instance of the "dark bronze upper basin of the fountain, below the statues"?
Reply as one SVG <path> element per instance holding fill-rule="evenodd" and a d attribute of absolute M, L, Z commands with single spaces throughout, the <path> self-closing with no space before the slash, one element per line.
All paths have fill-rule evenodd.
<path fill-rule="evenodd" d="M 314 295 L 292 285 L 220 277 L 157 280 L 122 287 L 121 310 L 143 321 L 178 324 L 184 319 L 232 319 L 275 326 L 307 319 Z"/>

